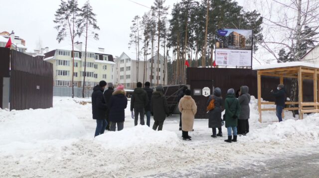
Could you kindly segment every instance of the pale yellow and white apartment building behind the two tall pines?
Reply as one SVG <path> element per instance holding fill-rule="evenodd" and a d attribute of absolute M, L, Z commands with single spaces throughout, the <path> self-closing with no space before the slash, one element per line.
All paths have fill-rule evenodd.
<path fill-rule="evenodd" d="M 83 45 L 84 46 L 84 45 Z M 45 53 L 44 61 L 53 64 L 53 79 L 55 87 L 72 87 L 72 46 L 60 47 Z M 113 56 L 106 54 L 104 48 L 87 48 L 86 63 L 84 62 L 85 48 L 81 42 L 74 45 L 74 87 L 94 87 L 101 80 L 113 81 L 112 68 L 115 63 Z M 86 66 L 86 73 L 84 67 Z"/>

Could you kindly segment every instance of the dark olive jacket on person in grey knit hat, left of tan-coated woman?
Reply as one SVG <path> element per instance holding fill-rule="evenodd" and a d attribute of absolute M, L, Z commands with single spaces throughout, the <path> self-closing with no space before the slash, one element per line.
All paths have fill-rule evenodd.
<path fill-rule="evenodd" d="M 152 96 L 152 112 L 155 121 L 164 121 L 169 113 L 167 101 L 161 91 L 154 91 Z"/>

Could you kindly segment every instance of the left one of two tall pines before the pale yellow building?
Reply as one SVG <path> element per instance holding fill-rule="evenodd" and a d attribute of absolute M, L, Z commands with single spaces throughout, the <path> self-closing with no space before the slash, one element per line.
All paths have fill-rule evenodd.
<path fill-rule="evenodd" d="M 56 40 L 60 43 L 69 35 L 72 43 L 72 98 L 74 97 L 74 38 L 78 34 L 79 11 L 77 0 L 68 0 L 67 2 L 61 0 L 53 20 L 57 24 L 54 27 L 58 31 Z"/>

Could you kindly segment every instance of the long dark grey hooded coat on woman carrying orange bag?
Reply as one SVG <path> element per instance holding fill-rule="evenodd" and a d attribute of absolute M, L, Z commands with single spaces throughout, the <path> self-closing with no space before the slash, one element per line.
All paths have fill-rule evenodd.
<path fill-rule="evenodd" d="M 221 127 L 221 112 L 222 110 L 222 98 L 216 95 L 210 95 L 207 101 L 209 102 L 214 99 L 215 108 L 208 112 L 208 127 L 209 128 L 220 128 Z"/>

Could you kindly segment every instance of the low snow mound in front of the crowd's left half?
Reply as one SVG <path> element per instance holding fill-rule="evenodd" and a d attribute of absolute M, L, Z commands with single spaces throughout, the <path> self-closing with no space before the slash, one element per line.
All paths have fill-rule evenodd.
<path fill-rule="evenodd" d="M 148 126 L 138 125 L 122 131 L 107 132 L 95 138 L 97 143 L 106 149 L 137 149 L 149 146 L 180 146 L 176 133 L 170 131 L 154 131 Z"/>

